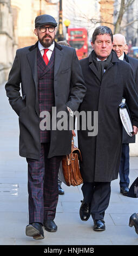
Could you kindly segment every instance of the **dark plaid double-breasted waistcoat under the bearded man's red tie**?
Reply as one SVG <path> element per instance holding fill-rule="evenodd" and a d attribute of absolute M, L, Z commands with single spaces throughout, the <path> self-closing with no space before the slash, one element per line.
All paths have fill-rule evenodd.
<path fill-rule="evenodd" d="M 39 111 L 52 112 L 52 106 L 55 106 L 54 97 L 54 59 L 55 50 L 52 52 L 48 65 L 45 64 L 42 54 L 37 49 L 37 74 L 38 74 L 38 102 Z M 44 117 L 45 118 L 45 117 Z M 44 118 L 40 118 L 40 121 Z M 46 125 L 46 121 L 43 126 Z M 40 129 L 40 141 L 41 143 L 50 142 L 50 130 Z"/>

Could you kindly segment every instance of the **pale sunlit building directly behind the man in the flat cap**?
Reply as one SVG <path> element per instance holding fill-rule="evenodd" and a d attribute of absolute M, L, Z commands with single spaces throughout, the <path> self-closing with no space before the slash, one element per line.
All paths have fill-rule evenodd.
<path fill-rule="evenodd" d="M 11 0 L 14 27 L 18 48 L 33 45 L 37 41 L 34 34 L 35 17 L 51 14 L 58 18 L 58 0 Z"/>

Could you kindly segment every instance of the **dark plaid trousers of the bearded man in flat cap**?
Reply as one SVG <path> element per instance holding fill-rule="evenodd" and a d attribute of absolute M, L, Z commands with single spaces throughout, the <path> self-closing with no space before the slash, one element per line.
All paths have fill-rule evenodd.
<path fill-rule="evenodd" d="M 27 159 L 29 223 L 54 220 L 58 202 L 58 170 L 62 156 L 48 159 L 50 143 L 41 143 L 40 160 Z"/>

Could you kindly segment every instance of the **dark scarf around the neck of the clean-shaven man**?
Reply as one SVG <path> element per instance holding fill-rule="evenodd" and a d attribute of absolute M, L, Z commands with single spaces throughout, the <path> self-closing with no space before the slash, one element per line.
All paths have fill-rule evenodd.
<path fill-rule="evenodd" d="M 102 76 L 103 76 L 103 74 L 104 74 L 104 69 L 107 69 L 109 63 L 111 62 L 111 53 L 110 53 L 110 55 L 107 57 L 106 60 L 103 60 L 103 61 L 101 61 L 101 62 L 97 60 L 95 51 L 92 51 L 92 52 L 91 52 L 91 57 L 92 57 L 92 59 L 93 59 L 94 65 L 96 66 L 96 69 L 97 69 L 98 72 L 99 72 L 100 81 L 102 81 Z"/>

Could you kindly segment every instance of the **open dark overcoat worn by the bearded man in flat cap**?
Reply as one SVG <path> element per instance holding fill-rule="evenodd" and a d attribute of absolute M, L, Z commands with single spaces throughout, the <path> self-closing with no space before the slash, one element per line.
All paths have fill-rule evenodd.
<path fill-rule="evenodd" d="M 17 50 L 5 85 L 9 102 L 19 116 L 19 155 L 36 160 L 40 159 L 37 48 L 38 42 Z M 67 111 L 67 106 L 76 111 L 85 93 L 86 87 L 75 49 L 55 42 L 54 96 L 57 113 Z M 55 124 L 53 127 L 56 129 Z M 71 130 L 54 129 L 50 133 L 48 157 L 69 154 Z"/>

